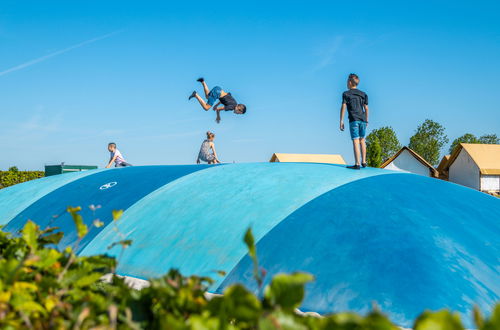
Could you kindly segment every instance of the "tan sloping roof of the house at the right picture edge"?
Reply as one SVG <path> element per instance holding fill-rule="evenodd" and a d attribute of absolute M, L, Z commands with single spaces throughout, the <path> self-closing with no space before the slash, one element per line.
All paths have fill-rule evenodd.
<path fill-rule="evenodd" d="M 462 149 L 470 155 L 481 174 L 500 175 L 500 144 L 460 143 L 453 150 L 445 169 L 453 165 Z"/>

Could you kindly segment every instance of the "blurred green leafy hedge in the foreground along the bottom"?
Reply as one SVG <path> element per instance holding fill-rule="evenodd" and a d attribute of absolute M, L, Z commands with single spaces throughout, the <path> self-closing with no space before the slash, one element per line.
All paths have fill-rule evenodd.
<path fill-rule="evenodd" d="M 79 240 L 88 228 L 68 208 Z M 118 221 L 121 212 L 114 212 Z M 101 226 L 99 221 L 93 226 Z M 40 230 L 29 221 L 19 237 L 0 232 L 0 328 L 2 329 L 397 329 L 377 310 L 367 316 L 339 313 L 315 317 L 296 312 L 304 298 L 304 285 L 313 280 L 305 273 L 279 274 L 262 288 L 250 230 L 244 241 L 254 261 L 254 276 L 263 289 L 259 298 L 242 285 L 228 287 L 224 295 L 208 299 L 213 283 L 207 277 L 184 277 L 176 270 L 151 279 L 142 290 L 130 288 L 114 273 L 117 261 L 108 256 L 76 256 L 74 248 L 53 247 L 62 233 Z M 125 250 L 122 240 L 111 244 Z M 488 320 L 476 311 L 477 327 L 500 329 L 500 306 Z M 457 315 L 443 310 L 425 312 L 415 329 L 463 329 Z"/>

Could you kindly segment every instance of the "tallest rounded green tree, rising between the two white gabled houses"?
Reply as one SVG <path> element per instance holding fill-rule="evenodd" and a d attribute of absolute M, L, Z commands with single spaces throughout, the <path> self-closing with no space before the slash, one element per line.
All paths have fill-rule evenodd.
<path fill-rule="evenodd" d="M 448 141 L 444 127 L 433 120 L 426 119 L 417 127 L 415 134 L 410 138 L 408 147 L 435 166 L 439 162 L 441 149 Z"/>

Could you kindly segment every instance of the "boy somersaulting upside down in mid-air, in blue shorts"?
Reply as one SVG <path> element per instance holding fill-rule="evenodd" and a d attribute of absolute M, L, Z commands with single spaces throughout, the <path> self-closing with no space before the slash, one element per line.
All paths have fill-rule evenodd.
<path fill-rule="evenodd" d="M 195 97 L 198 102 L 200 102 L 200 105 L 203 109 L 205 109 L 205 111 L 210 110 L 210 108 L 213 106 L 213 110 L 217 112 L 217 118 L 215 119 L 217 123 L 220 122 L 221 111 L 233 111 L 238 115 L 242 115 L 247 112 L 247 107 L 244 104 L 238 104 L 231 93 L 226 93 L 219 86 L 215 86 L 214 88 L 212 88 L 212 90 L 208 89 L 207 83 L 203 78 L 199 78 L 197 81 L 199 81 L 203 85 L 203 91 L 205 92 L 207 101 L 201 98 L 201 96 L 198 95 L 196 91 L 191 94 L 189 99 L 191 100 L 193 97 Z M 215 101 L 217 100 L 219 101 L 214 105 Z M 222 104 L 222 106 L 219 107 L 220 104 Z"/>

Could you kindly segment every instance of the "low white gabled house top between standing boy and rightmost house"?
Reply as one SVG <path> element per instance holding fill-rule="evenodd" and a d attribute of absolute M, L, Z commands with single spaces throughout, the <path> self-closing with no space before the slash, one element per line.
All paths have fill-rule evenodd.
<path fill-rule="evenodd" d="M 438 177 L 438 171 L 427 162 L 422 156 L 408 147 L 401 148 L 394 156 L 386 160 L 381 168 L 393 171 L 401 171 L 429 176 Z"/>

